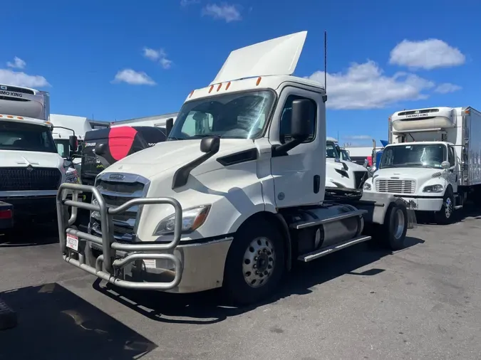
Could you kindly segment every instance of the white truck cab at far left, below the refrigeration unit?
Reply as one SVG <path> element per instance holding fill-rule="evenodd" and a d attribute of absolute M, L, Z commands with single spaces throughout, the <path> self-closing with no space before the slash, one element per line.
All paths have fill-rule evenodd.
<path fill-rule="evenodd" d="M 0 114 L 0 202 L 14 206 L 14 220 L 53 221 L 64 182 L 77 183 L 78 173 L 58 154 L 51 124 Z"/>

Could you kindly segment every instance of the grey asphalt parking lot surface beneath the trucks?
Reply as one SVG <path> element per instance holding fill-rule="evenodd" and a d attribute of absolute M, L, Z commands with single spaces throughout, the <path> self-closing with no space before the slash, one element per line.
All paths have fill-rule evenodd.
<path fill-rule="evenodd" d="M 106 287 L 56 235 L 0 236 L 0 297 L 19 314 L 0 359 L 481 359 L 481 216 L 420 225 L 396 253 L 361 244 L 299 265 L 274 299 Z M 208 261 L 208 259 L 206 259 Z"/>

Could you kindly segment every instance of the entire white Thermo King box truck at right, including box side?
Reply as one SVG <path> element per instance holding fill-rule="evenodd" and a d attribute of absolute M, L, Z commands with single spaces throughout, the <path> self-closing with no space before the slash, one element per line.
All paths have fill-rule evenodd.
<path fill-rule="evenodd" d="M 395 112 L 381 164 L 364 192 L 401 196 L 416 211 L 453 221 L 467 196 L 481 191 L 481 113 L 472 107 Z"/>

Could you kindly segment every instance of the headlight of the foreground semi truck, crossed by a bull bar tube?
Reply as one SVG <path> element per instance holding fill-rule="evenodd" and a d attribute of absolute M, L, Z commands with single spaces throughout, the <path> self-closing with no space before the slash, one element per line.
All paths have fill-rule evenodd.
<path fill-rule="evenodd" d="M 182 233 L 191 233 L 199 228 L 205 223 L 209 211 L 210 205 L 195 206 L 193 208 L 182 210 Z M 152 235 L 157 236 L 173 233 L 174 229 L 175 213 L 172 213 L 172 215 L 167 216 L 167 218 L 160 221 Z"/>

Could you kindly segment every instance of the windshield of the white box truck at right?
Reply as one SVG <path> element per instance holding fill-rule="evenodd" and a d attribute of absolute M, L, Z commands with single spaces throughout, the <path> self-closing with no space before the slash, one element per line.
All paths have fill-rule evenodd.
<path fill-rule="evenodd" d="M 447 159 L 443 144 L 410 144 L 386 147 L 379 169 L 390 167 L 433 167 L 441 169 Z"/>

